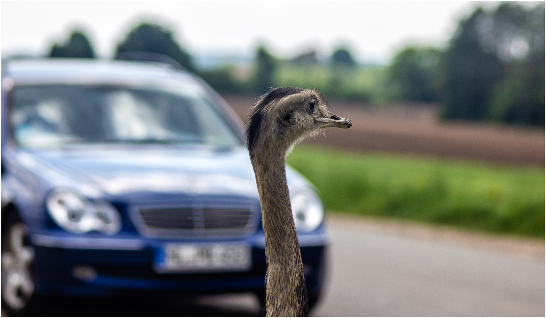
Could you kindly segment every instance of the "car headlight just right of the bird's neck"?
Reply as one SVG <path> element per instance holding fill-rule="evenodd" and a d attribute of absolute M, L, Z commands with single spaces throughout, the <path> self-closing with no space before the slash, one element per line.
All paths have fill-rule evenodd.
<path fill-rule="evenodd" d="M 296 230 L 311 232 L 324 219 L 322 200 L 311 189 L 298 189 L 290 197 Z"/>

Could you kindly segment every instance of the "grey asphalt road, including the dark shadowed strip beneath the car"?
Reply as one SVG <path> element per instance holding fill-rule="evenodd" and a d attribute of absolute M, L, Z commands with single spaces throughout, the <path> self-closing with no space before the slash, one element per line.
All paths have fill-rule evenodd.
<path fill-rule="evenodd" d="M 544 243 L 428 226 L 330 220 L 329 288 L 313 316 L 544 316 Z M 5 314 L 4 312 L 2 313 Z M 252 294 L 49 299 L 45 316 L 257 316 Z"/>

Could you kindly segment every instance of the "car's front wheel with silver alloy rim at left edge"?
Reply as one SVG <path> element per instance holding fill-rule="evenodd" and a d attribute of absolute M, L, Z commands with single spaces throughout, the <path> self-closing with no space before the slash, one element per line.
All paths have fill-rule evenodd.
<path fill-rule="evenodd" d="M 28 228 L 20 221 L 8 221 L 2 231 L 2 307 L 11 315 L 28 313 L 34 295 L 34 248 Z"/>

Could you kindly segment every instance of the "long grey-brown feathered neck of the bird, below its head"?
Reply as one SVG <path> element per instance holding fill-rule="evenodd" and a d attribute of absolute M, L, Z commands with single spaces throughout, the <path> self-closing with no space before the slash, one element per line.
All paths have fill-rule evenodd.
<path fill-rule="evenodd" d="M 274 149 L 259 149 L 259 155 L 257 149 L 251 151 L 262 205 L 268 263 L 265 314 L 307 316 L 307 292 L 286 180 L 286 153 L 279 153 L 279 148 L 276 148 L 277 151 Z"/>

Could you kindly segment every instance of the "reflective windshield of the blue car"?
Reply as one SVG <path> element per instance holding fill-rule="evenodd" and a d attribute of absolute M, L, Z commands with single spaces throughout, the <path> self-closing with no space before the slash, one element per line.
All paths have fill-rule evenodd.
<path fill-rule="evenodd" d="M 81 143 L 240 144 L 232 126 L 196 87 L 16 86 L 10 122 L 16 142 L 26 148 Z"/>

